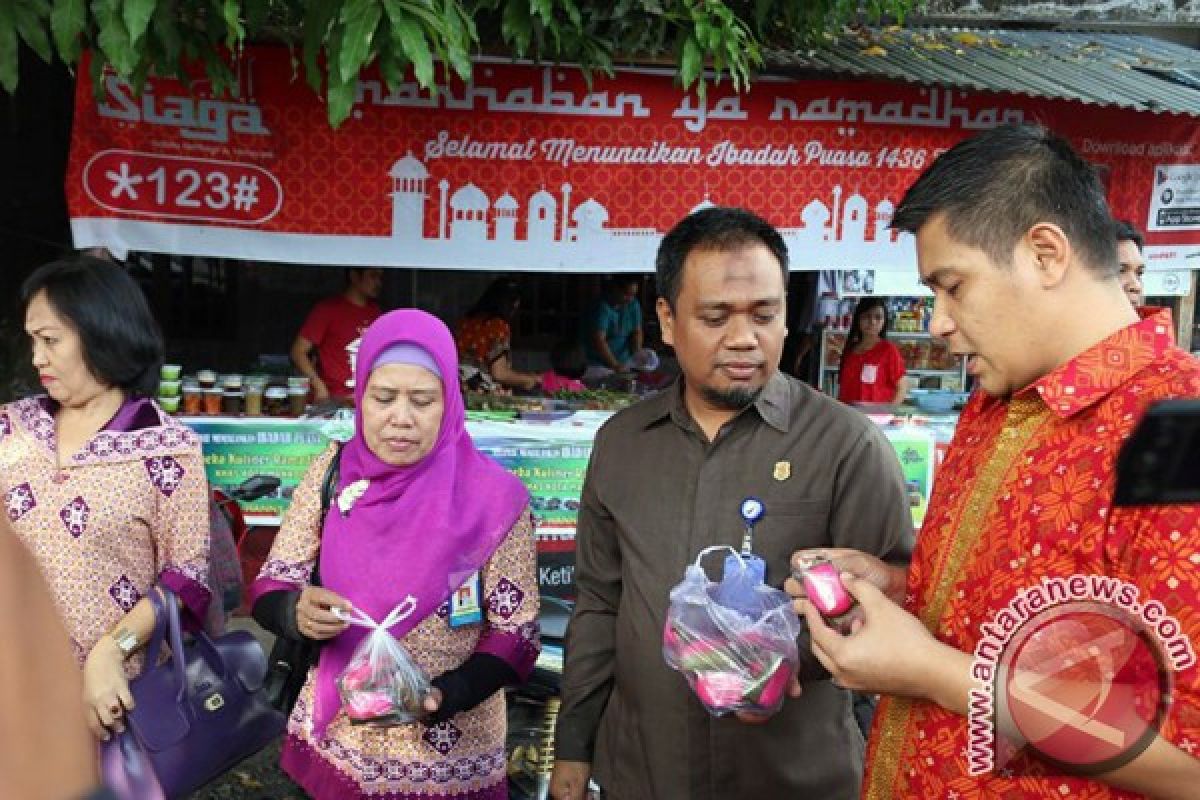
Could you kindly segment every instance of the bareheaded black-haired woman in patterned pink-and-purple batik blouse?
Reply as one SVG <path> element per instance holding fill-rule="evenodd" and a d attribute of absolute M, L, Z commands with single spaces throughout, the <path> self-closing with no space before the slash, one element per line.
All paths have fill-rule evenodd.
<path fill-rule="evenodd" d="M 137 283 L 94 258 L 54 261 L 20 291 L 44 395 L 0 407 L 0 497 L 37 560 L 83 668 L 88 722 L 124 728 L 154 630 L 146 593 L 204 619 L 209 504 L 196 435 L 149 398 L 163 345 Z"/>

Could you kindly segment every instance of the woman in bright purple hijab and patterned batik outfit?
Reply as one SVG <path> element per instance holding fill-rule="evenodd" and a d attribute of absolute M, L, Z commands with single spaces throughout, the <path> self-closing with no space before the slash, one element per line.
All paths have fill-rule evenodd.
<path fill-rule="evenodd" d="M 528 493 L 467 434 L 454 338 L 436 317 L 394 311 L 371 325 L 355 402 L 329 511 L 336 445 L 296 488 L 251 588 L 268 628 L 322 643 L 283 769 L 317 800 L 502 800 L 500 690 L 528 676 L 539 646 Z M 367 632 L 337 612 L 383 620 L 408 597 L 415 610 L 388 630 L 433 679 L 426 716 L 355 726 L 335 681 Z"/>

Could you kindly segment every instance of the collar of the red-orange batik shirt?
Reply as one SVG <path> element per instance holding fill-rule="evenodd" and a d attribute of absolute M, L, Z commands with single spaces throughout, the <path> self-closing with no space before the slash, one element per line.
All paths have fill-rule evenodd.
<path fill-rule="evenodd" d="M 1037 392 L 1054 414 L 1068 419 L 1108 397 L 1175 344 L 1168 308 L 1139 308 L 1141 319 L 1084 350 L 1016 396 Z"/>

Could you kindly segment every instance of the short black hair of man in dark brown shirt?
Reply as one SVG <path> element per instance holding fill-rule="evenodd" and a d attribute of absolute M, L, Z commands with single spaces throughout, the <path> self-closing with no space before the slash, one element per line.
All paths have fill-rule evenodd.
<path fill-rule="evenodd" d="M 674 309 L 683 284 L 683 265 L 692 251 L 730 252 L 754 245 L 764 246 L 775 257 L 786 287 L 787 245 L 769 222 L 752 211 L 720 205 L 689 213 L 659 245 L 654 259 L 659 296 Z"/>

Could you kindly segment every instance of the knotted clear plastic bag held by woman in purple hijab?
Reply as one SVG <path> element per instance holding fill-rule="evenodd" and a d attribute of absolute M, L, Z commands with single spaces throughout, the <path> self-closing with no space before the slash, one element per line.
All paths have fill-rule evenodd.
<path fill-rule="evenodd" d="M 415 603 L 409 601 L 410 597 L 382 622 L 376 622 L 356 608 L 342 613 L 347 622 L 371 628 L 337 676 L 342 709 L 354 724 L 391 727 L 425 716 L 430 676 L 413 661 L 404 645 L 388 632 L 389 627 L 412 613 Z M 408 613 L 404 613 L 406 607 Z"/>

